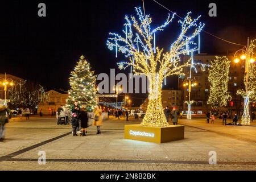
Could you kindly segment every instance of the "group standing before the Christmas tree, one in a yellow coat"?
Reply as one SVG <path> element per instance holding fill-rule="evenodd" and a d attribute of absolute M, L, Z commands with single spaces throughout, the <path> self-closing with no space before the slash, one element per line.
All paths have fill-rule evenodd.
<path fill-rule="evenodd" d="M 101 117 L 100 106 L 96 105 L 93 110 L 93 126 L 97 127 L 97 135 L 101 134 Z M 86 136 L 86 129 L 88 127 L 90 115 L 84 106 L 80 107 L 78 102 L 75 101 L 72 106 L 72 133 L 73 136 L 77 136 L 77 133 L 80 133 L 82 137 Z M 81 127 L 81 131 L 80 131 Z"/>

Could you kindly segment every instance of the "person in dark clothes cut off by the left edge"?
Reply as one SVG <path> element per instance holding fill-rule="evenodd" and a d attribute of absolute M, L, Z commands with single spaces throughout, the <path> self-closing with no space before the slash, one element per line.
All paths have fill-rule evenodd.
<path fill-rule="evenodd" d="M 9 117 L 8 117 L 9 115 Z M 5 124 L 11 118 L 11 110 L 4 105 L 4 101 L 0 101 L 0 142 L 5 140 Z"/>

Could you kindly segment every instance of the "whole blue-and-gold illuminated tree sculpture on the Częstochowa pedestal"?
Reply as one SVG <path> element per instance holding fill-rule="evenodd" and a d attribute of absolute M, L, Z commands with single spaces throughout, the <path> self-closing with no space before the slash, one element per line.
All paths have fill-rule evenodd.
<path fill-rule="evenodd" d="M 182 69 L 189 66 L 190 60 L 181 63 L 180 56 L 197 50 L 193 38 L 199 34 L 204 24 L 198 23 L 200 16 L 193 19 L 189 12 L 183 20 L 179 20 L 181 32 L 177 39 L 170 45 L 168 51 L 164 51 L 155 47 L 155 35 L 172 22 L 175 14 L 172 16 L 169 14 L 166 22 L 161 26 L 151 28 L 150 15 L 144 15 L 140 8 L 135 7 L 135 10 L 138 20 L 135 16 L 125 16 L 124 36 L 110 32 L 107 46 L 110 50 L 116 51 L 116 56 L 119 51 L 129 57 L 129 61 L 118 63 L 119 69 L 130 66 L 135 74 L 146 75 L 150 81 L 149 101 L 142 125 L 168 126 L 162 108 L 162 82 L 165 77 L 180 75 Z"/>

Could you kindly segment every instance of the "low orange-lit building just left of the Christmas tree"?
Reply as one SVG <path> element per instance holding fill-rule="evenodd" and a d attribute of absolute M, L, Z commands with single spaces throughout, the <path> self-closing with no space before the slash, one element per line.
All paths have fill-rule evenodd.
<path fill-rule="evenodd" d="M 53 114 L 57 112 L 57 109 L 61 105 L 64 106 L 66 104 L 68 92 L 63 90 L 49 90 L 47 93 L 49 94 L 49 99 L 38 105 L 39 112 L 42 110 L 43 114 Z"/>

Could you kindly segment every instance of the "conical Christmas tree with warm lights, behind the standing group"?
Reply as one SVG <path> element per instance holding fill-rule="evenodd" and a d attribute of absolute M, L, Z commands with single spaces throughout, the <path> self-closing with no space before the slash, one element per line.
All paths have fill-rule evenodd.
<path fill-rule="evenodd" d="M 89 110 L 97 104 L 96 101 L 96 75 L 94 71 L 90 71 L 90 64 L 81 55 L 74 71 L 69 77 L 71 89 L 68 90 L 67 106 L 72 107 L 74 101 L 78 101 L 79 105 L 85 105 Z"/>

